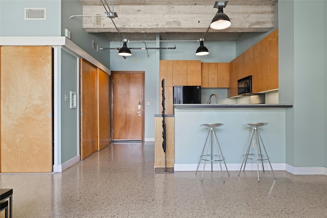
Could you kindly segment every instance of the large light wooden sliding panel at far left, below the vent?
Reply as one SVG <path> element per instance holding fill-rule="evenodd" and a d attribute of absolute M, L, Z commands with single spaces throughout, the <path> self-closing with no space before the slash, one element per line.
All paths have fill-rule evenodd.
<path fill-rule="evenodd" d="M 1 173 L 51 173 L 52 47 L 1 50 Z"/>

